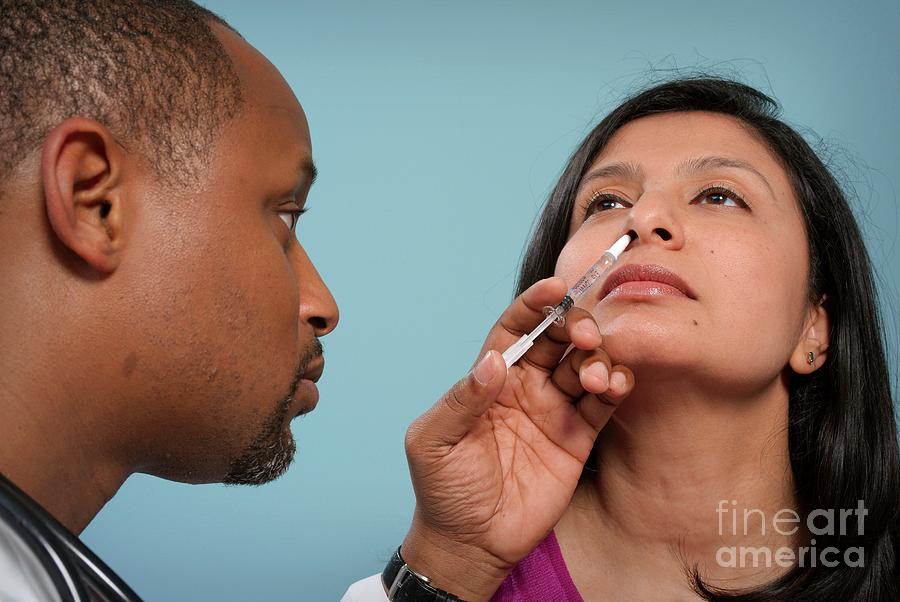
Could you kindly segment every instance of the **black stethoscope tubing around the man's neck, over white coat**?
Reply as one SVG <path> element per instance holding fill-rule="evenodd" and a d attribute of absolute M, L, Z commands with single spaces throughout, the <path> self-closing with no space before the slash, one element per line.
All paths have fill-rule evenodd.
<path fill-rule="evenodd" d="M 140 602 L 112 569 L 2 474 L 0 520 L 35 555 L 62 602 Z"/>

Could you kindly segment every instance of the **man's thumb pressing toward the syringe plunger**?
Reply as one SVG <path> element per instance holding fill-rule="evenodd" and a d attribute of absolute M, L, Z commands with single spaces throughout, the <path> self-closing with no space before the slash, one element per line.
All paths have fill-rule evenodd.
<path fill-rule="evenodd" d="M 420 435 L 431 443 L 456 445 L 496 401 L 506 382 L 506 363 L 488 351 L 422 418 Z"/>

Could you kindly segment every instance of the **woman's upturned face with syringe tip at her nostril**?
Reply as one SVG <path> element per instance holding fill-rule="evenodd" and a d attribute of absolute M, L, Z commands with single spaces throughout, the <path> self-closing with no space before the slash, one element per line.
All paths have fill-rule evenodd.
<path fill-rule="evenodd" d="M 716 113 L 625 125 L 582 179 L 556 274 L 573 284 L 629 230 L 638 240 L 579 301 L 613 362 L 639 380 L 690 375 L 747 394 L 771 385 L 806 336 L 808 251 L 766 145 Z"/>

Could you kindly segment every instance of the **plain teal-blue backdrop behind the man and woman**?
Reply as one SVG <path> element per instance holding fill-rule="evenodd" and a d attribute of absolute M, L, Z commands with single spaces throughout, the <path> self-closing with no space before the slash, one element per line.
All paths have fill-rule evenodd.
<path fill-rule="evenodd" d="M 475 359 L 569 153 L 654 70 L 738 74 L 833 145 L 893 297 L 896 378 L 900 2 L 207 5 L 307 111 L 300 237 L 341 323 L 286 476 L 136 476 L 86 530 L 147 600 L 336 600 L 381 570 L 413 507 L 406 426 Z"/>

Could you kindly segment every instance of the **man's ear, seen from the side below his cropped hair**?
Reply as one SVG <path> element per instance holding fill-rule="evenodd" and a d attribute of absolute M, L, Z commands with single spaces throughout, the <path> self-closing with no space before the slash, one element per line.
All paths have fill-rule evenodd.
<path fill-rule="evenodd" d="M 106 127 L 80 117 L 57 125 L 41 155 L 50 227 L 63 246 L 103 274 L 120 261 L 125 158 Z"/>

